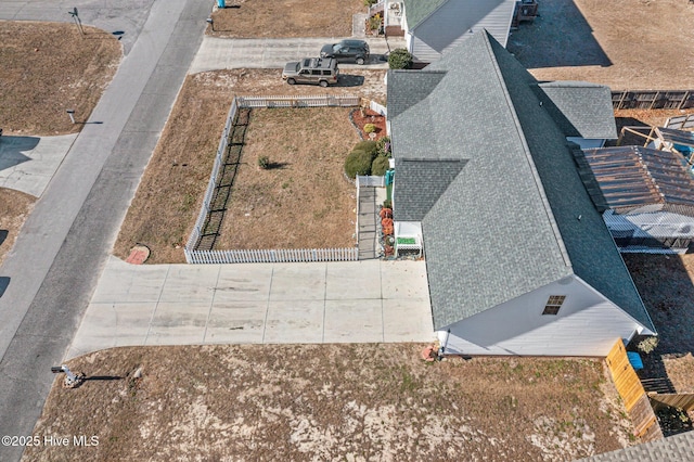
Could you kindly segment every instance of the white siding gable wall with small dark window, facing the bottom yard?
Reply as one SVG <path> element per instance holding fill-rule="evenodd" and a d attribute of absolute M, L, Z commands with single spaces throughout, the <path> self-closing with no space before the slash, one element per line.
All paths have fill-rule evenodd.
<path fill-rule="evenodd" d="M 550 295 L 566 295 L 558 315 L 542 315 Z M 437 332 L 447 354 L 606 356 L 641 324 L 578 277 L 569 277 Z"/>

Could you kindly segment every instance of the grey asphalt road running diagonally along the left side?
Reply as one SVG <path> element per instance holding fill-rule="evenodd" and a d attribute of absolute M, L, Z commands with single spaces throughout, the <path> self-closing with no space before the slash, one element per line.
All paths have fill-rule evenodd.
<path fill-rule="evenodd" d="M 54 3 L 0 1 L 0 18 L 62 20 L 66 3 Z M 50 368 L 63 360 L 87 308 L 213 2 L 76 1 L 67 9 L 74 5 L 85 24 L 124 31 L 128 55 L 0 267 L 9 278 L 0 297 L 3 436 L 31 434 L 54 380 Z M 126 10 L 129 16 L 119 14 Z M 101 20 L 91 23 L 90 14 Z M 22 452 L 0 446 L 0 460 Z"/>

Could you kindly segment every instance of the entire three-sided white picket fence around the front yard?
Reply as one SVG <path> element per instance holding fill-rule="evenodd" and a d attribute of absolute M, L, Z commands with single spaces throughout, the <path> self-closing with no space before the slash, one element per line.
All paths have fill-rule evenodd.
<path fill-rule="evenodd" d="M 359 105 L 359 97 L 355 95 L 290 95 L 290 97 L 235 97 L 231 102 L 227 124 L 222 132 L 215 165 L 213 167 L 203 206 L 191 232 L 183 253 L 189 264 L 250 264 L 250 262 L 292 262 L 292 261 L 356 261 L 359 257 L 358 248 L 281 248 L 252 251 L 197 251 L 197 241 L 203 232 L 209 205 L 217 184 L 217 174 L 223 161 L 229 132 L 231 130 L 239 107 L 350 107 Z M 377 177 L 382 178 L 383 177 Z"/>

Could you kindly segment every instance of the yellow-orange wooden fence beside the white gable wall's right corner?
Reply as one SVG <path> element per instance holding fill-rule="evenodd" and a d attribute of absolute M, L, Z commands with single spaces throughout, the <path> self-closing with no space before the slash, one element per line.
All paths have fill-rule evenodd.
<path fill-rule="evenodd" d="M 661 438 L 663 432 L 651 407 L 648 395 L 646 395 L 639 376 L 631 363 L 629 363 L 627 350 L 621 338 L 617 341 L 609 354 L 607 354 L 605 362 L 612 373 L 615 387 L 625 402 L 625 408 L 633 421 L 634 434 L 644 440 Z"/>

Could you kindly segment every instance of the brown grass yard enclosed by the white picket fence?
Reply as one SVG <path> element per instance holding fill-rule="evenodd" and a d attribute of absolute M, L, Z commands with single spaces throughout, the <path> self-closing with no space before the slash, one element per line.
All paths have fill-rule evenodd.
<path fill-rule="evenodd" d="M 216 249 L 354 247 L 347 107 L 253 110 Z M 269 168 L 258 167 L 267 156 Z"/>

